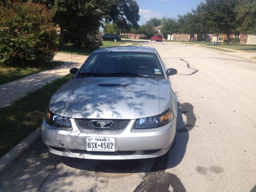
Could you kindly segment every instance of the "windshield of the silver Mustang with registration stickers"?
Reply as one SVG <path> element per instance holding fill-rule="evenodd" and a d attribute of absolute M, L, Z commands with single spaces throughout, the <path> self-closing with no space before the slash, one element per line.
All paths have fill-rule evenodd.
<path fill-rule="evenodd" d="M 156 54 L 144 52 L 94 53 L 78 75 L 164 78 Z"/>

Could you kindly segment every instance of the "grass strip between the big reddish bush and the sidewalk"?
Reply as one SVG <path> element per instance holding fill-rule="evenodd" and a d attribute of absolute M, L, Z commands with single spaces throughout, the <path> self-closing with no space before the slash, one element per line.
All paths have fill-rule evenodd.
<path fill-rule="evenodd" d="M 26 68 L 0 66 L 0 84 L 4 84 L 28 75 L 32 75 L 34 73 L 52 69 L 62 63 L 63 62 L 61 61 L 53 61 L 53 62 L 46 62 L 40 66 L 26 67 Z"/>

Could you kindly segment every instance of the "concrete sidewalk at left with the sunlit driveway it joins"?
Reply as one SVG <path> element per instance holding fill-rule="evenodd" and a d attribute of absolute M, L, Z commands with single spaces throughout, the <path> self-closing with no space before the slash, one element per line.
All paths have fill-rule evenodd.
<path fill-rule="evenodd" d="M 65 76 L 69 73 L 70 68 L 79 68 L 86 55 L 75 55 L 67 53 L 57 53 L 54 61 L 63 61 L 64 63 L 54 69 L 42 71 L 24 78 L 20 78 L 0 86 L 0 108 L 9 105 L 12 101 L 27 93 L 39 89 L 54 79 Z"/>

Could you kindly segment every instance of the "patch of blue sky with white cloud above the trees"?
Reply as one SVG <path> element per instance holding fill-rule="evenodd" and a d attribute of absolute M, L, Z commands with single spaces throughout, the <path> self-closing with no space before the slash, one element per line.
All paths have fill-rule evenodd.
<path fill-rule="evenodd" d="M 196 9 L 197 5 L 203 0 L 137 0 L 140 11 L 139 25 L 144 24 L 152 17 L 161 18 L 177 17 L 178 14 L 183 15 L 192 8 Z"/>

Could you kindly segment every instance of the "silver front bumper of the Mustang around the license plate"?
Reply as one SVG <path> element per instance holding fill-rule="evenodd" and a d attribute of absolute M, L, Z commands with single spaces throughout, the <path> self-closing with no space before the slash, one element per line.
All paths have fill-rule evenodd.
<path fill-rule="evenodd" d="M 144 159 L 164 155 L 172 146 L 176 134 L 176 119 L 155 129 L 134 130 L 135 120 L 131 120 L 121 132 L 98 131 L 81 133 L 71 119 L 72 129 L 65 131 L 46 123 L 42 123 L 42 140 L 49 151 L 56 155 L 83 159 Z M 115 152 L 88 152 L 87 137 L 115 138 Z"/>

